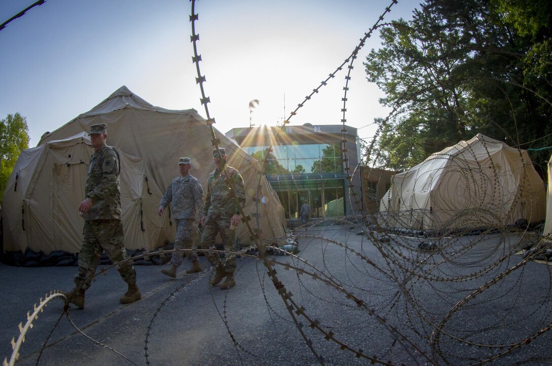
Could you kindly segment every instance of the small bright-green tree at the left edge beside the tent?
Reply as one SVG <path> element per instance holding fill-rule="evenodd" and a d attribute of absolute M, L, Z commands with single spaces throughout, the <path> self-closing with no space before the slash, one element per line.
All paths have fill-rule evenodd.
<path fill-rule="evenodd" d="M 21 151 L 29 148 L 29 128 L 19 113 L 0 119 L 0 204 L 8 178 Z"/>

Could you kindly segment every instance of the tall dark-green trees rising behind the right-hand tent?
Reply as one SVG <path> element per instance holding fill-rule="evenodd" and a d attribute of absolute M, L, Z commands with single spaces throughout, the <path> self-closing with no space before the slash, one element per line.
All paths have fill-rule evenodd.
<path fill-rule="evenodd" d="M 376 120 L 370 162 L 405 170 L 477 133 L 552 145 L 550 10 L 548 0 L 428 0 L 381 29 L 364 65 L 393 112 Z M 538 166 L 546 154 L 531 152 Z"/>

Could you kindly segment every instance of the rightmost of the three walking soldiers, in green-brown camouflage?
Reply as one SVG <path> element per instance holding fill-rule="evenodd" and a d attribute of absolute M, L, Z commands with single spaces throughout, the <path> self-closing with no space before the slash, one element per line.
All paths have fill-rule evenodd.
<path fill-rule="evenodd" d="M 224 148 L 213 150 L 213 161 L 216 169 L 209 175 L 203 217 L 201 226 L 201 248 L 207 249 L 215 243 L 217 233 L 222 238 L 222 244 L 233 249 L 236 236 L 235 227 L 240 223 L 239 204 L 245 204 L 245 186 L 240 172 L 236 168 L 226 165 L 226 151 Z M 225 172 L 226 171 L 226 172 Z M 228 179 L 233 183 L 235 192 L 230 188 Z M 237 202 L 235 200 L 237 198 Z M 216 267 L 215 277 L 211 286 L 216 286 L 222 278 L 226 277 L 220 285 L 221 289 L 228 289 L 236 285 L 234 272 L 236 271 L 236 257 L 231 255 L 224 263 L 221 263 L 218 253 L 205 253 L 209 263 Z"/>

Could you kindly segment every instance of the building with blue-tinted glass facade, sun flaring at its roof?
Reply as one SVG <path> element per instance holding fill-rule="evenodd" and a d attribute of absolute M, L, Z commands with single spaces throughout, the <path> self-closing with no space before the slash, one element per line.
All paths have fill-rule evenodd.
<path fill-rule="evenodd" d="M 353 173 L 359 161 L 357 129 L 343 125 L 311 125 L 233 128 L 226 136 L 259 161 L 267 156 L 265 172 L 284 206 L 288 220 L 299 218 L 304 202 L 312 217 L 326 218 L 352 214 L 349 204 L 347 167 Z M 345 140 L 348 164 L 343 161 Z M 267 150 L 272 145 L 272 151 Z M 353 175 L 353 190 L 362 210 L 360 174 Z M 355 206 L 353 202 L 353 206 Z"/>

